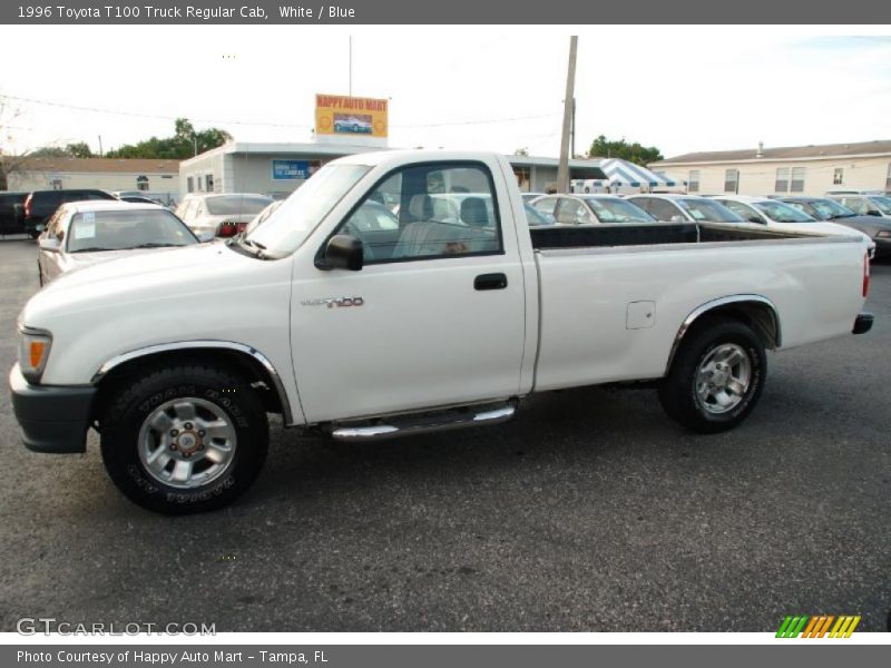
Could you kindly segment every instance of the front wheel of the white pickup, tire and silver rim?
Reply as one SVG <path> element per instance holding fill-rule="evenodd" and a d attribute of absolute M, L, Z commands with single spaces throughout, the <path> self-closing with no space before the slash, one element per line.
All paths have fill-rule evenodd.
<path fill-rule="evenodd" d="M 221 508 L 260 473 L 266 413 L 237 374 L 213 365 L 170 366 L 112 392 L 116 399 L 99 419 L 102 461 L 120 491 L 143 508 L 168 514 Z"/>

